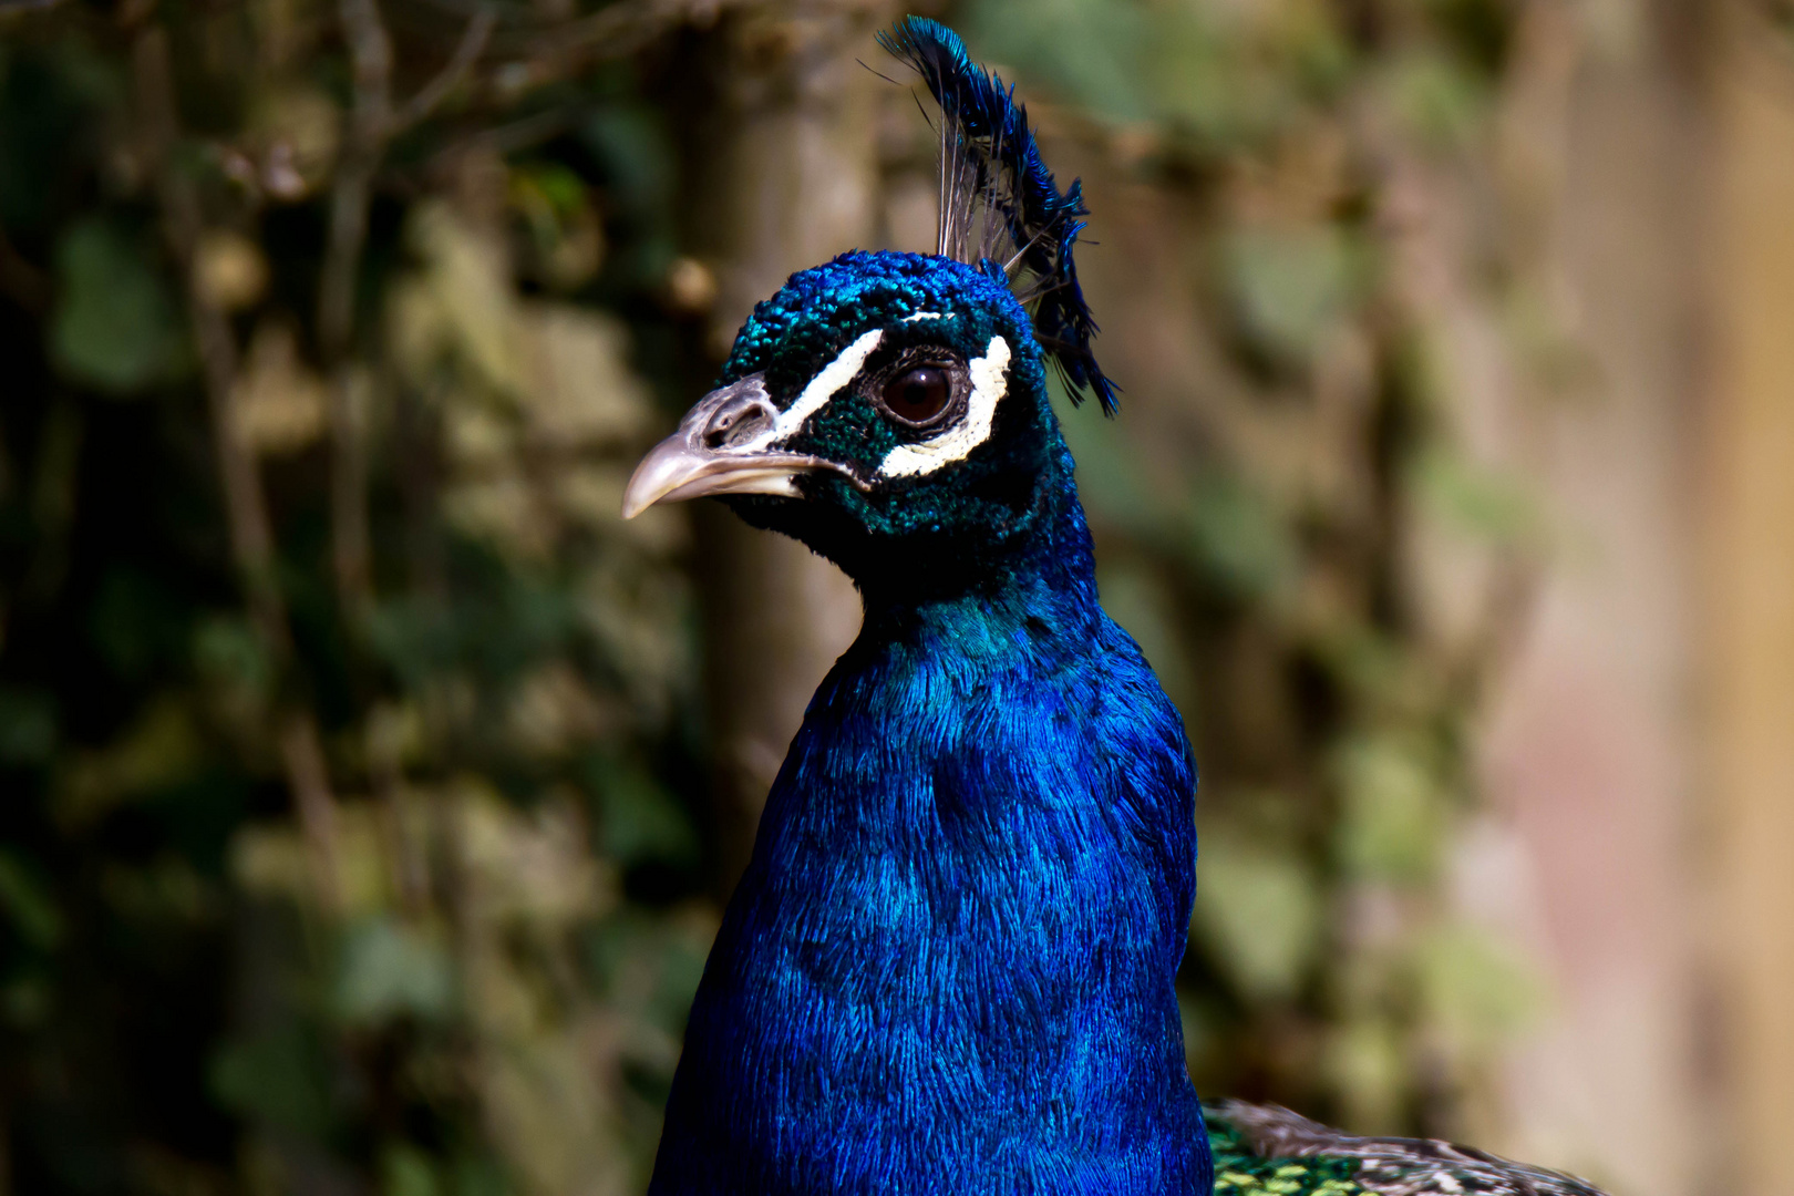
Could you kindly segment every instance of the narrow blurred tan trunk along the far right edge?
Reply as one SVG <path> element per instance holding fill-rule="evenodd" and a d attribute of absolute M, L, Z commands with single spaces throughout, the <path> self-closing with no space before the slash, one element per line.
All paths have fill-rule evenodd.
<path fill-rule="evenodd" d="M 1794 41 L 1753 5 L 1722 14 L 1701 597 L 1726 1015 L 1710 1065 L 1729 1133 L 1711 1187 L 1780 1196 L 1794 1192 Z"/>

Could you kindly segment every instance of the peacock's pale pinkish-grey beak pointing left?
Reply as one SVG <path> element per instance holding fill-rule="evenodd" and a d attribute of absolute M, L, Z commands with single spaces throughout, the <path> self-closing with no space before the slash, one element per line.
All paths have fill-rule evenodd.
<path fill-rule="evenodd" d="M 771 448 L 768 441 L 777 434 L 777 421 L 779 409 L 757 373 L 710 391 L 685 412 L 678 430 L 635 466 L 623 491 L 623 518 L 635 518 L 657 502 L 703 495 L 797 498 L 797 475 L 816 470 L 852 479 L 834 461 Z"/>

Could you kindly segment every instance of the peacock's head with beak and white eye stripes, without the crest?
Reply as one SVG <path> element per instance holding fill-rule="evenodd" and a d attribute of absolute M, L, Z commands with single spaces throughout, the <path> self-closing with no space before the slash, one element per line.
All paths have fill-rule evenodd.
<path fill-rule="evenodd" d="M 721 382 L 637 468 L 624 515 L 727 495 L 865 579 L 1001 550 L 1069 475 L 1028 314 L 951 258 L 849 253 L 795 274 Z"/>

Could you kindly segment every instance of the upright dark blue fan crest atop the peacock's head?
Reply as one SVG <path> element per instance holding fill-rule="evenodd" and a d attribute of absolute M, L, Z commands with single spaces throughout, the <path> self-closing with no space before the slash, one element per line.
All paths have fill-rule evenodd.
<path fill-rule="evenodd" d="M 940 106 L 935 253 L 1014 285 L 1073 402 L 1093 393 L 1103 414 L 1114 414 L 1116 386 L 1091 351 L 1096 321 L 1071 256 L 1089 215 L 1080 183 L 1058 190 L 1015 88 L 974 63 L 956 32 L 906 16 L 879 34 L 879 45 L 922 75 Z"/>

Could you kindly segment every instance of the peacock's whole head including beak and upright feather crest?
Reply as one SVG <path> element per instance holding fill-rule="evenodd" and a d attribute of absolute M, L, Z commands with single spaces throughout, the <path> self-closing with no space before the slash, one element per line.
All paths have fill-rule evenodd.
<path fill-rule="evenodd" d="M 1060 192 L 1014 93 L 945 27 L 884 38 L 940 104 L 936 253 L 845 253 L 793 274 L 736 335 L 721 386 L 635 470 L 624 516 L 721 495 L 861 586 L 988 574 L 1071 502 L 1046 364 L 1103 411 Z"/>

